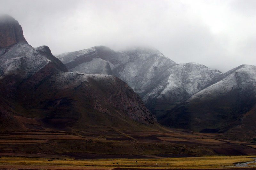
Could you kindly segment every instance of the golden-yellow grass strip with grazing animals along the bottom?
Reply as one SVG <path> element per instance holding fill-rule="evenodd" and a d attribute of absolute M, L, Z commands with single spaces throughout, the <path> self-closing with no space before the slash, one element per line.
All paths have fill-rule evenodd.
<path fill-rule="evenodd" d="M 113 169 L 120 168 L 223 168 L 234 167 L 234 163 L 253 161 L 256 156 L 208 156 L 191 158 L 163 158 L 163 159 L 91 159 L 66 160 L 47 158 L 26 158 L 3 156 L 0 158 L 0 169 L 31 168 L 31 169 Z M 52 161 L 49 161 L 52 160 Z M 136 162 L 137 161 L 137 162 Z M 118 163 L 118 164 L 117 164 Z M 253 164 L 253 163 L 252 163 Z"/>

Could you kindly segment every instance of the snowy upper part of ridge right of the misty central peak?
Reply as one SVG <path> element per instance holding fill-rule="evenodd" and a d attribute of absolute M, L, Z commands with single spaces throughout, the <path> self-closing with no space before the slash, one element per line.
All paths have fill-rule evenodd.
<path fill-rule="evenodd" d="M 172 98 L 175 101 L 182 101 L 199 92 L 222 74 L 218 70 L 211 70 L 198 63 L 177 64 L 166 72 L 168 72 L 168 77 L 159 85 L 164 88 L 156 88 L 161 89 L 160 94 L 156 98 L 162 100 Z M 149 97 L 156 92 L 157 90 L 154 89 L 153 92 L 146 96 Z M 148 100 L 145 97 L 143 99 Z"/>

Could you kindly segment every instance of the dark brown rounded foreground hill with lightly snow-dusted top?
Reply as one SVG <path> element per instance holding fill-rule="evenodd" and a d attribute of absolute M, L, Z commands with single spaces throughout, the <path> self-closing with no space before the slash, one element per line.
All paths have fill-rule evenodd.
<path fill-rule="evenodd" d="M 139 96 L 119 78 L 80 72 L 59 72 L 42 78 L 45 72 L 47 67 L 19 86 L 16 97 L 25 117 L 48 122 L 64 119 L 68 125 L 63 128 L 79 130 L 98 126 L 127 129 L 156 122 Z M 37 84 L 33 84 L 35 80 Z"/>

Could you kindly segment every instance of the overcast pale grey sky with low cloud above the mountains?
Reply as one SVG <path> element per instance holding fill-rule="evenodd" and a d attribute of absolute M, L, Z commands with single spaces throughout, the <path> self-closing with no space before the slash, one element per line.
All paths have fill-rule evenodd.
<path fill-rule="evenodd" d="M 143 45 L 222 72 L 256 65 L 256 0 L 0 0 L 0 13 L 53 54 Z"/>

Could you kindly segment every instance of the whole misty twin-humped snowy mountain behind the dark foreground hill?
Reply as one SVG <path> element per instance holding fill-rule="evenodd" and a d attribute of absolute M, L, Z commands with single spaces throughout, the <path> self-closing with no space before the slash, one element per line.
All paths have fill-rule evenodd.
<path fill-rule="evenodd" d="M 161 74 L 176 64 L 156 49 L 140 47 L 114 52 L 107 47 L 97 46 L 64 53 L 57 58 L 65 61 L 70 71 L 115 75 L 141 96 L 152 87 L 152 84 L 157 84 Z"/>

